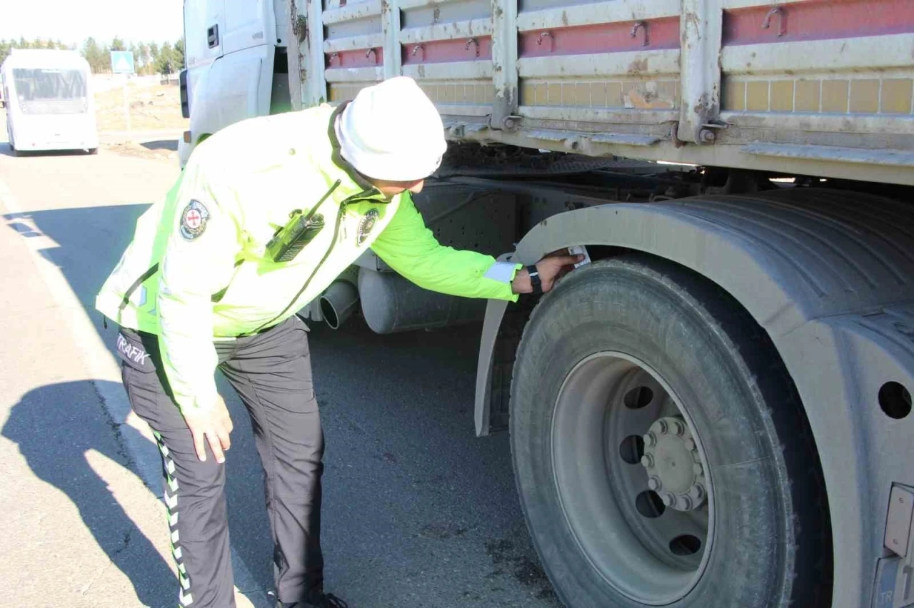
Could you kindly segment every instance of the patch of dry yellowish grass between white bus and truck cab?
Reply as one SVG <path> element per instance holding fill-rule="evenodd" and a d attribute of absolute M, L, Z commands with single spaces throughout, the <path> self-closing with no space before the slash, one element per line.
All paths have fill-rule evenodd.
<path fill-rule="evenodd" d="M 181 116 L 180 92 L 174 85 L 138 87 L 128 85 L 130 122 L 133 131 L 186 130 L 187 119 Z M 95 94 L 95 116 L 99 131 L 126 131 L 123 110 L 123 88 Z"/>

